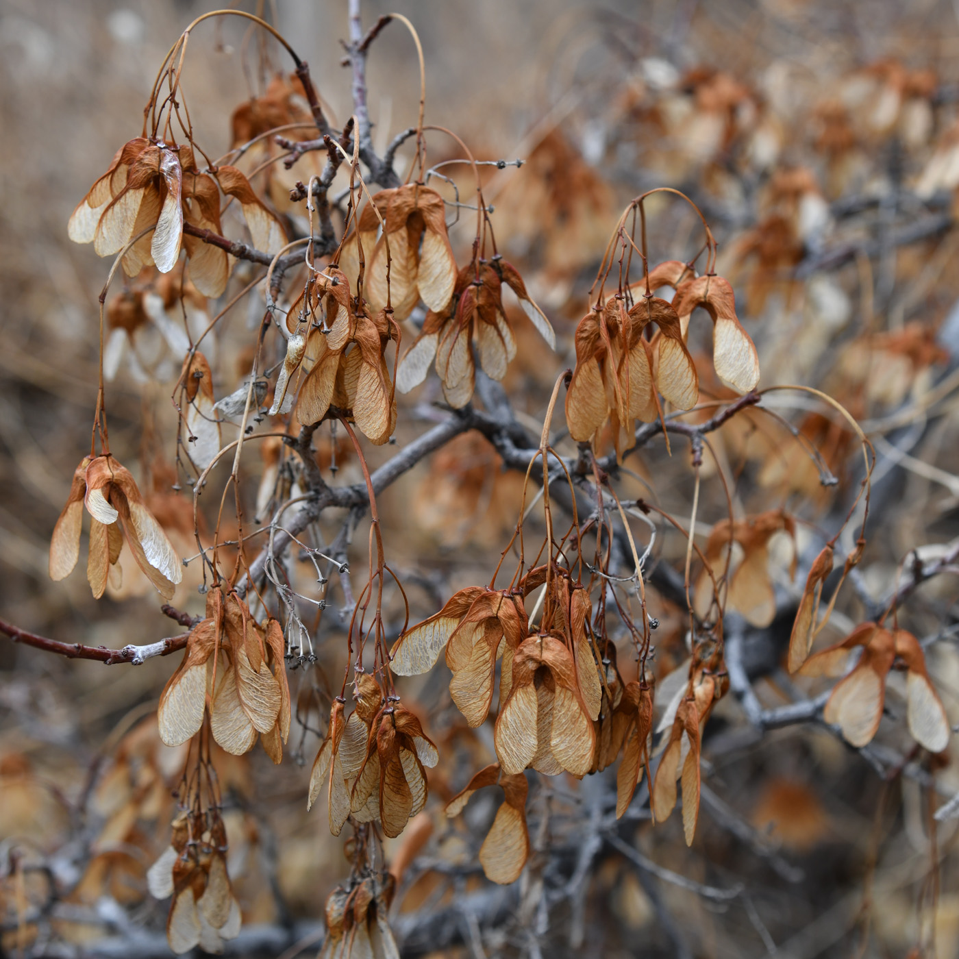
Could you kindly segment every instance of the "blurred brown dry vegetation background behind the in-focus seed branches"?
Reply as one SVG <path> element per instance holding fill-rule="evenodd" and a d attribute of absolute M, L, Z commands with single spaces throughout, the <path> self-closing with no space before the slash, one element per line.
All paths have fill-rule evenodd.
<path fill-rule="evenodd" d="M 916 574 L 910 550 L 922 550 L 924 563 L 946 557 L 945 572 L 906 598 L 900 623 L 929 640 L 933 682 L 959 720 L 950 545 L 959 536 L 959 10 L 935 0 L 395 6 L 423 40 L 429 121 L 456 129 L 478 156 L 528 161 L 487 179 L 506 252 L 559 339 L 550 355 L 517 324 L 519 354 L 504 386 L 520 425 L 538 435 L 555 376 L 573 363 L 575 323 L 622 205 L 653 186 L 686 189 L 719 240 L 719 271 L 733 282 L 756 341 L 761 386 L 822 388 L 876 443 L 861 575 L 845 587 L 820 642 L 837 642 L 875 615 L 901 583 L 907 556 L 901 575 Z M 345 3 L 278 0 L 276 7 L 277 26 L 309 60 L 341 122 L 350 110 L 349 72 L 339 66 Z M 85 452 L 96 398 L 96 298 L 108 269 L 92 249 L 67 240 L 66 222 L 117 145 L 139 132 L 156 66 L 176 35 L 208 9 L 189 0 L 0 0 L 0 615 L 65 642 L 120 647 L 177 631 L 153 596 L 97 602 L 80 573 L 52 584 L 47 550 Z M 364 2 L 365 23 L 389 9 Z M 230 147 L 225 118 L 252 92 L 245 36 L 235 23 L 207 23 L 191 41 L 184 85 L 212 155 Z M 255 82 L 253 49 L 246 59 Z M 286 66 L 275 51 L 272 63 Z M 376 41 L 368 80 L 374 138 L 383 144 L 415 122 L 416 61 L 398 27 Z M 448 149 L 436 147 L 433 159 Z M 665 201 L 650 209 L 654 262 L 691 256 L 698 240 L 688 210 Z M 451 232 L 457 252 L 468 246 L 469 229 Z M 248 324 L 258 319 L 240 311 L 229 320 L 215 369 L 218 397 L 239 384 Z M 695 345 L 708 357 L 708 336 Z M 143 345 L 147 353 L 154 347 Z M 704 392 L 730 395 L 700 370 Z M 156 456 L 169 460 L 175 440 L 169 384 L 142 385 L 122 368 L 108 393 L 114 450 L 128 465 L 141 464 L 147 487 Z M 438 399 L 433 383 L 405 401 L 399 447 L 441 416 L 431 407 Z M 710 898 L 698 885 L 661 881 L 600 839 L 582 875 L 567 865 L 574 886 L 553 896 L 561 908 L 547 918 L 535 895 L 544 883 L 555 892 L 550 842 L 576 860 L 596 838 L 586 824 L 600 815 L 604 787 L 571 780 L 537 794 L 543 808 L 554 804 L 555 832 L 536 833 L 545 822 L 536 807 L 539 858 L 513 892 L 490 891 L 475 869 L 450 867 L 475 852 L 494 807 L 479 804 L 469 829 L 451 832 L 434 799 L 425 860 L 410 867 L 397 906 L 404 954 L 959 955 L 956 820 L 932 816 L 959 789 L 959 751 L 951 745 L 930 759 L 915 747 L 896 695 L 901 675 L 890 680 L 876 742 L 863 750 L 819 721 L 762 728 L 740 705 L 748 700 L 755 720 L 756 711 L 829 689 L 787 675 L 782 657 L 809 563 L 824 542 L 820 531 L 835 532 L 861 479 L 853 434 L 821 408 L 804 398 L 774 409 L 822 451 L 838 487 L 820 487 L 810 457 L 783 427 L 743 418 L 714 435 L 700 543 L 726 515 L 721 470 L 735 480 L 740 515 L 783 507 L 801 518 L 799 573 L 790 580 L 788 557 L 774 550 L 779 616 L 762 630 L 744 630 L 739 620 L 739 642 L 752 643 L 745 659 L 753 691 L 731 692 L 713 714 L 703 753 L 710 792 L 692 848 L 676 816 L 655 830 L 634 818 L 616 834 L 643 861 L 730 895 Z M 568 439 L 562 449 L 575 453 Z M 392 452 L 377 450 L 371 462 Z M 680 437 L 671 458 L 660 445 L 627 465 L 635 479 L 620 478 L 622 495 L 652 496 L 688 520 L 692 474 Z M 250 470 L 260 469 L 253 457 Z M 345 456 L 339 480 L 359 478 Z M 380 502 L 387 551 L 408 583 L 414 619 L 488 579 L 521 487 L 521 476 L 503 471 L 493 448 L 470 433 L 389 489 Z M 188 547 L 182 510 L 168 507 Z M 351 559 L 362 571 L 360 528 Z M 847 540 L 848 550 L 854 533 Z M 657 561 L 682 570 L 681 537 L 664 531 L 655 551 Z M 202 612 L 196 585 L 188 573 L 179 608 Z M 662 681 L 687 655 L 684 620 L 666 593 L 654 592 L 650 608 L 662 623 L 654 664 Z M 317 647 L 325 671 L 291 674 L 307 712 L 310 690 L 328 695 L 328 677 L 339 675 L 341 640 L 334 631 L 325 650 Z M 169 789 L 182 761 L 181 751 L 159 743 L 152 717 L 176 658 L 105 668 L 0 637 L 0 954 L 167 954 L 165 907 L 145 895 L 143 873 L 167 844 Z M 405 689 L 431 717 L 443 755 L 431 792 L 447 800 L 489 761 L 491 741 L 458 721 L 439 672 Z M 323 810 L 306 811 L 316 715 L 311 730 L 294 729 L 278 769 L 259 750 L 219 757 L 229 868 L 245 923 L 227 944 L 231 954 L 299 955 L 294 945 L 316 941 L 323 903 L 348 870 Z M 564 807 L 577 789 L 580 806 Z M 387 854 L 403 843 L 387 843 Z M 66 894 L 51 905 L 54 887 Z M 470 896 L 478 913 L 457 907 Z M 43 903 L 48 911 L 36 924 Z M 430 913 L 439 921 L 417 926 L 409 918 Z"/>

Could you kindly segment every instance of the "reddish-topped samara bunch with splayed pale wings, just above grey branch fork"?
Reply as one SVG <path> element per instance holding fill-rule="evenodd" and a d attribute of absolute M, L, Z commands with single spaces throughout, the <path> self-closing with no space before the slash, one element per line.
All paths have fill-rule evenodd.
<path fill-rule="evenodd" d="M 427 314 L 423 329 L 397 367 L 396 388 L 401 393 L 421 384 L 435 359 L 447 402 L 455 409 L 466 406 L 476 379 L 474 340 L 483 372 L 493 380 L 503 379 L 516 356 L 516 338 L 503 310 L 503 283 L 516 294 L 526 316 L 555 349 L 550 321 L 526 292 L 517 270 L 499 255 L 489 261 L 479 260 L 459 270 L 451 299 Z"/>

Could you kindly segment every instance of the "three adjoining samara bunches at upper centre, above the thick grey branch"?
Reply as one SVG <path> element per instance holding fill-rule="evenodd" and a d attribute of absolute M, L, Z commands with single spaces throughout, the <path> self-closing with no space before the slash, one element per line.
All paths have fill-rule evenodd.
<path fill-rule="evenodd" d="M 385 443 L 396 426 L 386 346 L 399 343 L 399 323 L 420 301 L 428 310 L 422 331 L 396 366 L 401 392 L 422 383 L 434 363 L 447 402 L 464 407 L 476 382 L 474 346 L 487 375 L 503 379 L 516 356 L 503 284 L 554 345 L 546 316 L 501 257 L 474 256 L 456 267 L 445 208 L 436 191 L 419 183 L 373 195 L 334 263 L 311 274 L 287 314 L 287 356 L 270 414 L 288 409 L 287 391 L 300 372 L 300 423 L 316 423 L 335 407 L 373 443 Z"/>

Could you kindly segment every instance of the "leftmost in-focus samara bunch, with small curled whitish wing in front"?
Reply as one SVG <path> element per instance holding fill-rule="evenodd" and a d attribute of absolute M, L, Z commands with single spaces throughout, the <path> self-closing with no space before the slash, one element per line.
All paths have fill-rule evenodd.
<path fill-rule="evenodd" d="M 50 578 L 63 579 L 77 565 L 84 506 L 90 514 L 86 577 L 93 595 L 103 596 L 107 579 L 117 575 L 126 539 L 137 566 L 162 596 L 172 598 L 183 568 L 129 470 L 108 453 L 85 457 L 74 472 L 50 541 Z"/>

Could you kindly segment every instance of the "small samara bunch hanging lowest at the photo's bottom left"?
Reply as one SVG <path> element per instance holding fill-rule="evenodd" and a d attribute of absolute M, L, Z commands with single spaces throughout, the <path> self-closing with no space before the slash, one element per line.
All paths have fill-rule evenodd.
<path fill-rule="evenodd" d="M 216 810 L 208 829 L 195 817 L 180 815 L 167 850 L 147 873 L 151 895 L 173 897 L 167 918 L 167 942 L 177 954 L 200 947 L 220 953 L 223 940 L 240 934 L 240 904 L 226 872 L 226 830 Z"/>

